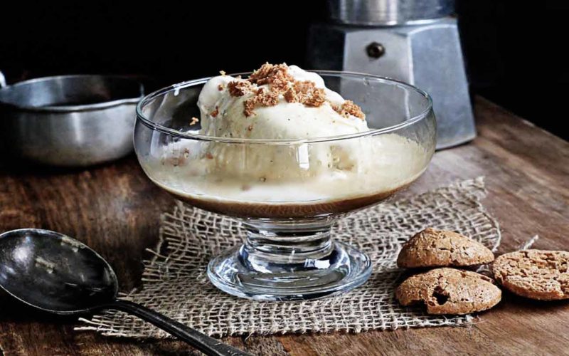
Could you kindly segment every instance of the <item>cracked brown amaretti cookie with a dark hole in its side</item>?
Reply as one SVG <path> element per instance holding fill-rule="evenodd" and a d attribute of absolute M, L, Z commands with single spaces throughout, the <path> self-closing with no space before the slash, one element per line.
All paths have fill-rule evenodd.
<path fill-rule="evenodd" d="M 429 314 L 468 314 L 492 308 L 501 290 L 491 278 L 455 268 L 410 276 L 395 290 L 401 305 L 424 304 Z"/>

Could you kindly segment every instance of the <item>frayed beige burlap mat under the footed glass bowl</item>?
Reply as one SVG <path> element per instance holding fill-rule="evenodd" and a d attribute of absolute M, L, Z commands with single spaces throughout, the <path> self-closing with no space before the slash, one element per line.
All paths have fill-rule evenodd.
<path fill-rule="evenodd" d="M 427 226 L 460 231 L 495 250 L 500 231 L 479 201 L 485 195 L 478 178 L 358 211 L 339 221 L 334 238 L 368 253 L 374 263 L 369 281 L 336 298 L 273 303 L 235 298 L 209 283 L 208 260 L 240 244 L 240 224 L 178 204 L 162 216 L 160 244 L 154 258 L 144 261 L 144 287 L 124 298 L 218 336 L 463 325 L 472 322 L 472 315 L 426 315 L 419 308 L 400 307 L 393 297 L 402 273 L 395 260 L 401 244 Z M 79 330 L 104 335 L 169 336 L 121 312 L 82 321 Z"/>

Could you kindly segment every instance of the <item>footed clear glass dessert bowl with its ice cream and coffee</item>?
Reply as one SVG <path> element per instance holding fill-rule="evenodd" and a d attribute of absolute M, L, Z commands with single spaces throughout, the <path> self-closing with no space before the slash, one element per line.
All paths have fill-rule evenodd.
<path fill-rule="evenodd" d="M 411 85 L 267 64 L 147 95 L 134 147 L 159 187 L 243 224 L 243 245 L 208 265 L 216 287 L 304 300 L 366 282 L 370 259 L 331 226 L 415 181 L 435 126 L 430 97 Z"/>

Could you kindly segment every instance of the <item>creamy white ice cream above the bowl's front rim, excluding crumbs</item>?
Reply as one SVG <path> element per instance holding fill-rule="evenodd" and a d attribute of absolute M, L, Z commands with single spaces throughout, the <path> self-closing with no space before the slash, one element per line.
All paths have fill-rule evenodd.
<path fill-rule="evenodd" d="M 296 82 L 314 83 L 314 88 L 323 89 L 326 99 L 324 103 L 312 106 L 301 102 L 289 102 L 285 98 L 286 91 L 281 90 L 275 95 L 276 105 L 259 105 L 254 108 L 252 115 L 246 115 L 245 103 L 255 98 L 259 90 L 270 93 L 271 85 L 269 83 L 249 85 L 245 79 L 219 75 L 211 78 L 203 86 L 199 96 L 201 133 L 216 137 L 257 140 L 299 140 L 368 130 L 366 121 L 360 117 L 343 116 L 336 111 L 346 103 L 346 100 L 338 93 L 327 89 L 320 75 L 297 66 L 289 66 L 287 73 Z M 245 83 L 248 85 L 248 92 L 243 95 L 232 95 L 229 90 L 232 82 Z"/>

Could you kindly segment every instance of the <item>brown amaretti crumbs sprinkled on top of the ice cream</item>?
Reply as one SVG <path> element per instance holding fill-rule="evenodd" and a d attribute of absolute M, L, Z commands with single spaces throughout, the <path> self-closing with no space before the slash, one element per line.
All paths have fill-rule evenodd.
<path fill-rule="evenodd" d="M 263 90 L 263 88 L 255 91 L 254 85 L 265 84 L 269 85 L 268 91 Z M 288 66 L 285 63 L 278 65 L 265 63 L 249 75 L 246 80 L 237 78 L 237 80 L 228 83 L 228 90 L 229 94 L 234 97 L 240 97 L 251 92 L 255 93 L 243 102 L 243 113 L 247 117 L 255 113 L 257 106 L 277 105 L 279 95 L 283 95 L 287 103 L 302 103 L 313 108 L 318 108 L 327 101 L 326 92 L 323 88 L 316 88 L 314 82 L 309 80 L 294 80 L 292 75 L 288 73 Z M 346 100 L 341 106 L 332 105 L 332 108 L 344 117 L 353 115 L 361 120 L 366 117 L 361 108 L 350 100 Z"/>

